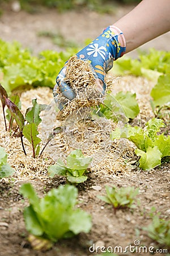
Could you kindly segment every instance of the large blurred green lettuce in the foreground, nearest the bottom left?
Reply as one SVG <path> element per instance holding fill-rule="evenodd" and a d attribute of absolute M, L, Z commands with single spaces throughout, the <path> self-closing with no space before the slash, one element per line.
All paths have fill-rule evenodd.
<path fill-rule="evenodd" d="M 49 240 L 49 244 L 46 243 L 46 249 L 59 239 L 90 231 L 90 214 L 75 208 L 78 189 L 74 186 L 60 185 L 39 199 L 32 185 L 28 183 L 22 185 L 20 193 L 27 197 L 30 203 L 24 209 L 26 229 L 35 240 L 37 238 Z M 39 241 L 39 247 L 35 249 L 44 247 L 43 241 Z"/>

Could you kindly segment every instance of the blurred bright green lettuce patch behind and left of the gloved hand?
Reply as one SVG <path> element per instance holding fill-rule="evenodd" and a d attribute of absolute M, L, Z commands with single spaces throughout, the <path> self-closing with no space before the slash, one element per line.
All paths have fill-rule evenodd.
<path fill-rule="evenodd" d="M 69 48 L 65 52 L 42 51 L 38 57 L 32 56 L 28 49 L 22 49 L 18 42 L 7 43 L 0 39 L 0 80 L 7 93 L 18 86 L 49 86 L 53 88 L 56 74 L 65 61 L 78 52 Z"/>

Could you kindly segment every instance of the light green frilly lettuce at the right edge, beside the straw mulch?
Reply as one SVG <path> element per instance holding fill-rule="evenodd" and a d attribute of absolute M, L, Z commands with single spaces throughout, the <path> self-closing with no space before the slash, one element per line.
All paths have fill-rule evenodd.
<path fill-rule="evenodd" d="M 127 138 L 133 142 L 137 149 L 135 154 L 141 156 L 139 167 L 143 170 L 151 170 L 161 164 L 161 159 L 164 156 L 170 155 L 170 136 L 159 134 L 160 128 L 164 127 L 162 119 L 152 118 L 147 123 L 144 129 L 138 126 L 126 125 L 124 129 L 116 129 L 112 132 L 111 138 Z M 126 130 L 128 129 L 128 135 Z"/>

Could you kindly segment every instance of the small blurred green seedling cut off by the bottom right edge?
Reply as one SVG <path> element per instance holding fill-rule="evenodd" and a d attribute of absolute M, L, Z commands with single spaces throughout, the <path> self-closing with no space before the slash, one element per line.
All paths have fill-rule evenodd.
<path fill-rule="evenodd" d="M 146 230 L 148 237 L 159 243 L 160 246 L 170 248 L 170 221 L 164 220 L 158 214 L 152 217 L 152 222 Z"/>

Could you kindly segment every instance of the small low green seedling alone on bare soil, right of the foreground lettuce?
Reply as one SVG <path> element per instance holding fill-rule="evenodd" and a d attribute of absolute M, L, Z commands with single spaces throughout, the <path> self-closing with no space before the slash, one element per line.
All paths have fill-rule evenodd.
<path fill-rule="evenodd" d="M 106 196 L 97 196 L 107 204 L 113 205 L 114 212 L 120 208 L 135 208 L 134 199 L 139 193 L 138 188 L 105 186 Z"/>

